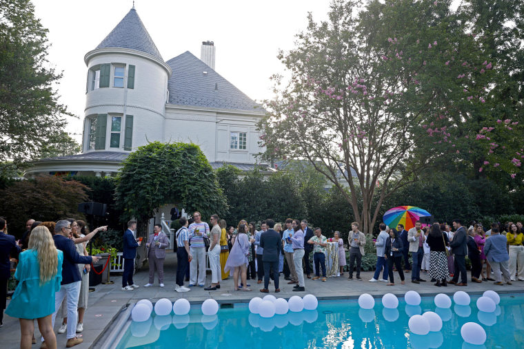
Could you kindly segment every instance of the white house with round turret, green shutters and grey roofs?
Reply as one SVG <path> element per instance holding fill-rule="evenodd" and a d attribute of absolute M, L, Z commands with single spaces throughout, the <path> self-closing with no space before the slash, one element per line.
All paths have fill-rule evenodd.
<path fill-rule="evenodd" d="M 82 153 L 41 159 L 27 174 L 112 176 L 130 151 L 155 140 L 194 142 L 214 168 L 254 167 L 264 110 L 215 72 L 214 52 L 207 41 L 202 60 L 184 52 L 164 61 L 132 8 L 85 54 Z"/>

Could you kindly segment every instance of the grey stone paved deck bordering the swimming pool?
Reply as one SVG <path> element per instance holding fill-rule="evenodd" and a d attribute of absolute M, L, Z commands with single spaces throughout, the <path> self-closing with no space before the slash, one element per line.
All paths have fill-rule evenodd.
<path fill-rule="evenodd" d="M 248 303 L 253 297 L 263 297 L 265 293 L 259 292 L 263 288 L 263 284 L 256 284 L 256 281 L 250 280 L 248 284 L 251 285 L 252 292 L 243 292 L 233 290 L 233 279 L 230 276 L 221 282 L 221 288 L 214 291 L 205 291 L 201 287 L 193 287 L 190 292 L 177 293 L 174 291 L 175 274 L 177 270 L 177 257 L 175 253 L 167 253 L 164 263 L 164 288 L 160 288 L 158 278 L 155 275 L 155 284 L 152 287 L 145 288 L 143 285 L 148 283 L 149 270 L 148 266 L 143 266 L 133 277 L 134 282 L 140 285 L 133 291 L 121 290 L 121 276 L 112 276 L 114 281 L 112 285 L 103 285 L 95 287 L 95 291 L 89 294 L 89 306 L 85 310 L 84 326 L 83 326 L 83 340 L 84 342 L 75 346 L 74 348 L 85 349 L 92 348 L 95 343 L 102 337 L 105 329 L 108 328 L 112 321 L 122 312 L 126 304 L 138 302 L 140 299 L 150 299 L 151 302 L 156 302 L 161 298 L 168 298 L 172 302 L 179 298 L 188 299 L 191 304 L 201 304 L 205 299 L 216 299 L 220 304 L 234 304 L 234 303 Z M 482 294 L 485 290 L 495 290 L 498 293 L 523 293 L 524 282 L 513 282 L 512 285 L 495 286 L 493 282 L 482 282 L 481 284 L 469 282 L 467 287 L 458 287 L 449 285 L 447 287 L 436 287 L 427 274 L 421 273 L 421 277 L 427 282 L 421 284 L 412 284 L 411 274 L 406 274 L 406 283 L 401 285 L 399 274 L 395 273 L 395 286 L 386 286 L 385 282 L 369 282 L 374 272 L 362 272 L 361 277 L 363 281 L 347 280 L 347 273 L 343 277 L 328 278 L 326 282 L 320 280 L 313 281 L 312 279 L 305 279 L 305 291 L 293 292 L 292 286 L 288 285 L 283 275 L 281 276 L 280 293 L 274 293 L 274 286 L 270 285 L 270 294 L 275 297 L 290 298 L 293 295 L 306 295 L 311 293 L 318 299 L 355 299 L 363 293 L 370 293 L 374 297 L 381 297 L 385 293 L 393 293 L 398 297 L 403 297 L 408 290 L 416 290 L 421 296 L 434 296 L 437 293 L 446 293 L 453 295 L 457 290 L 463 290 L 470 295 Z M 469 271 L 468 271 L 469 275 Z M 353 275 L 355 277 L 356 275 Z M 206 278 L 206 286 L 210 284 L 211 276 Z M 468 277 L 469 279 L 469 277 Z M 188 286 L 188 282 L 185 282 Z M 8 300 L 8 304 L 9 304 Z M 55 332 L 61 324 L 61 319 L 57 317 L 54 325 Z M 35 321 L 35 337 L 39 338 L 38 324 Z M 66 335 L 57 335 L 57 348 L 66 347 Z M 20 348 L 20 326 L 18 319 L 4 315 L 3 328 L 0 328 L 0 343 L 3 349 Z M 32 348 L 40 348 L 39 345 L 34 344 Z"/>

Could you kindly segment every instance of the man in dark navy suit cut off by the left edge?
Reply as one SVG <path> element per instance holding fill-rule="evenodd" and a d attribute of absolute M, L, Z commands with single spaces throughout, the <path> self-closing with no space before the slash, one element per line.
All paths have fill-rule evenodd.
<path fill-rule="evenodd" d="M 6 220 L 0 218 L 0 327 L 2 327 L 3 310 L 6 308 L 6 297 L 8 295 L 8 281 L 11 276 L 9 256 L 18 258 L 22 251 L 14 240 L 14 236 L 3 233 L 6 225 Z"/>

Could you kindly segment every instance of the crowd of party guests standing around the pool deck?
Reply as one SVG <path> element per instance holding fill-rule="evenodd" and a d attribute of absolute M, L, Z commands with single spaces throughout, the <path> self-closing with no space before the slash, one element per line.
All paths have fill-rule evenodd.
<path fill-rule="evenodd" d="M 305 278 L 326 281 L 328 239 L 321 228 L 311 229 L 306 220 L 285 220 L 283 229 L 281 223 L 268 219 L 261 222 L 261 230 L 257 231 L 255 222 L 241 220 L 236 226 L 227 226 L 218 215 L 212 215 L 208 224 L 201 220 L 199 212 L 194 212 L 190 220 L 181 217 L 179 223 L 181 228 L 175 233 L 177 292 L 188 292 L 195 286 L 218 290 L 221 280 L 228 278 L 230 273 L 234 290 L 251 291 L 248 282 L 256 280 L 257 284 L 263 283 L 262 293 L 270 293 L 270 284 L 274 284 L 274 292 L 279 293 L 281 274 L 288 284 L 294 285 L 294 291 L 305 290 Z M 456 219 L 452 226 L 454 231 L 447 224 L 435 222 L 422 227 L 417 221 L 406 231 L 402 224 L 396 229 L 380 224 L 380 232 L 374 240 L 376 271 L 370 282 L 385 282 L 392 286 L 396 271 L 401 284 L 405 284 L 405 275 L 409 273 L 412 283 L 425 282 L 421 273 L 427 273 L 436 286 L 467 286 L 466 256 L 471 262 L 472 282 L 492 281 L 503 285 L 504 282 L 512 284 L 516 279 L 524 281 L 521 222 L 493 223 L 489 230 L 472 222 L 466 230 L 462 221 Z M 37 342 L 34 319 L 37 319 L 42 335 L 41 348 L 56 348 L 53 327 L 60 309 L 63 320 L 58 333 L 67 332 L 66 346 L 70 348 L 82 343 L 83 339 L 77 333 L 83 331 L 83 315 L 88 306 L 88 273 L 92 263 L 100 258 L 90 256 L 85 246 L 96 233 L 107 230 L 107 226 L 89 233 L 85 222 L 68 219 L 56 223 L 28 220 L 26 227 L 26 233 L 16 241 L 7 234 L 6 220 L 0 218 L 0 327 L 6 309 L 10 257 L 14 257 L 18 259 L 14 277 L 19 283 L 6 314 L 19 319 L 21 348 L 30 348 Z M 142 243 L 141 238 L 135 237 L 136 229 L 137 222 L 131 220 L 123 235 L 122 290 L 125 291 L 139 287 L 133 282 L 134 259 L 137 247 Z M 332 242 L 338 246 L 338 267 L 343 276 L 347 268 L 345 242 L 339 231 L 334 232 Z M 348 280 L 353 280 L 354 272 L 356 280 L 362 280 L 361 260 L 366 242 L 359 224 L 353 222 L 347 240 Z M 164 287 L 163 261 L 170 240 L 160 224 L 154 225 L 145 248 L 150 268 L 145 287 L 154 285 L 155 271 L 159 286 Z M 211 269 L 211 282 L 207 287 L 206 251 Z M 310 268 L 310 255 L 314 274 Z M 185 282 L 188 282 L 188 287 Z"/>

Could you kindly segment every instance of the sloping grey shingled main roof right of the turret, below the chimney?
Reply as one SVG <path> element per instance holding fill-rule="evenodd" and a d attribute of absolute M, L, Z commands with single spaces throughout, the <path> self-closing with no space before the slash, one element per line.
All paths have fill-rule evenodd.
<path fill-rule="evenodd" d="M 263 111 L 261 105 L 189 51 L 166 63 L 173 72 L 168 81 L 170 104 Z"/>

